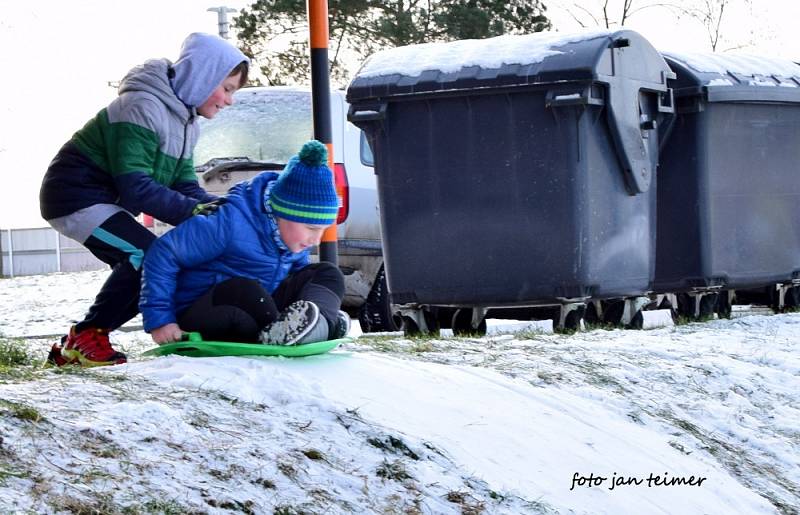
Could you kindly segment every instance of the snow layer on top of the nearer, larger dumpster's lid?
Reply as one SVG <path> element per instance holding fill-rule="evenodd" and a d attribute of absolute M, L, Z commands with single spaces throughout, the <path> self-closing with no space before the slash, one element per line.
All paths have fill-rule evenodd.
<path fill-rule="evenodd" d="M 563 53 L 558 47 L 567 43 L 611 33 L 597 29 L 570 34 L 539 32 L 391 48 L 371 55 L 358 71 L 358 76 L 399 74 L 416 77 L 427 70 L 452 73 L 470 66 L 490 70 L 504 64 L 533 64 L 551 55 Z"/>

